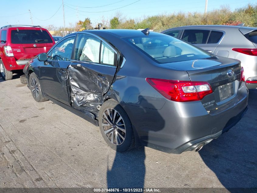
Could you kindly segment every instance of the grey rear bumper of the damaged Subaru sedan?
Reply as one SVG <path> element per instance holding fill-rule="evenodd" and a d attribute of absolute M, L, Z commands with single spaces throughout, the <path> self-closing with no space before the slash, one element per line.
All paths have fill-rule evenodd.
<path fill-rule="evenodd" d="M 233 127 L 247 109 L 248 90 L 241 89 L 229 105 L 208 113 L 200 101 L 173 102 L 148 109 L 122 105 L 144 146 L 168 153 L 192 151 Z"/>

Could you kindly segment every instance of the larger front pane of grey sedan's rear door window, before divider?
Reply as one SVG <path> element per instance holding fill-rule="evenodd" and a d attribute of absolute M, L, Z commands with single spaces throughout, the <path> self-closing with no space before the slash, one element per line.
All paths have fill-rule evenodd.
<path fill-rule="evenodd" d="M 99 63 L 100 44 L 101 40 L 92 35 L 78 34 L 75 46 L 75 60 Z"/>

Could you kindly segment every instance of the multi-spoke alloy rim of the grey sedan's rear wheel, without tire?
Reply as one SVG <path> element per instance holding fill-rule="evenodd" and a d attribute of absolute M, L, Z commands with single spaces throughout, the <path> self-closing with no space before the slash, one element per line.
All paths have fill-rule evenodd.
<path fill-rule="evenodd" d="M 102 115 L 102 126 L 106 137 L 114 145 L 121 145 L 126 138 L 126 127 L 120 113 L 108 108 Z"/>

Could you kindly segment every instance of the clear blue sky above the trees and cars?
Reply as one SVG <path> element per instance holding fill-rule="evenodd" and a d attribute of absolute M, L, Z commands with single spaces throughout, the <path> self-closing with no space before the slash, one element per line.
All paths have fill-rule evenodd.
<path fill-rule="evenodd" d="M 248 3 L 255 4 L 257 3 L 257 0 L 208 0 L 207 10 L 210 11 L 212 9 L 218 9 L 221 5 L 229 6 L 232 10 L 234 10 L 236 8 L 245 6 Z M 9 24 L 31 25 L 29 9 L 32 13 L 34 25 L 47 26 L 53 24 L 57 27 L 63 26 L 63 9 L 61 5 L 62 0 L 2 0 L 0 6 L 2 8 L 4 7 L 5 9 L 1 9 L 0 12 L 0 26 Z M 93 24 L 100 23 L 102 16 L 104 16 L 105 19 L 111 19 L 116 15 L 117 11 L 122 13 L 122 15 L 127 18 L 140 19 L 144 18 L 144 16 L 158 15 L 160 13 L 168 14 L 180 11 L 204 12 L 204 8 L 205 0 L 64 0 L 66 26 L 68 26 L 69 23 L 75 23 L 78 20 L 84 20 L 85 17 L 89 17 Z"/>

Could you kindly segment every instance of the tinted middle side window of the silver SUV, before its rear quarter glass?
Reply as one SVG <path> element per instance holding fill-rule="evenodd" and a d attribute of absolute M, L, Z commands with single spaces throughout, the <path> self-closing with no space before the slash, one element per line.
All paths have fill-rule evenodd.
<path fill-rule="evenodd" d="M 184 30 L 182 40 L 191 44 L 206 44 L 210 30 Z"/>

